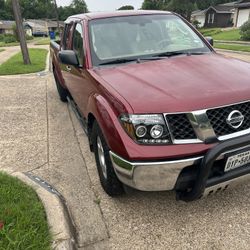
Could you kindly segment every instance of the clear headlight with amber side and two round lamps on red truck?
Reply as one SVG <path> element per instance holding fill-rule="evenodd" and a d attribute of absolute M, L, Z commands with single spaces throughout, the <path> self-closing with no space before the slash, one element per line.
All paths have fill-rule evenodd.
<path fill-rule="evenodd" d="M 170 144 L 163 115 L 122 115 L 120 121 L 128 135 L 140 144 Z"/>

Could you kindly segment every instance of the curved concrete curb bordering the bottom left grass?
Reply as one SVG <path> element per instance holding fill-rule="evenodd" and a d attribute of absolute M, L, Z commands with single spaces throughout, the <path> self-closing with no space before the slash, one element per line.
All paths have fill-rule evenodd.
<path fill-rule="evenodd" d="M 43 203 L 53 237 L 52 249 L 75 250 L 75 228 L 62 196 L 48 183 L 30 173 L 3 171 L 32 187 L 37 193 Z"/>

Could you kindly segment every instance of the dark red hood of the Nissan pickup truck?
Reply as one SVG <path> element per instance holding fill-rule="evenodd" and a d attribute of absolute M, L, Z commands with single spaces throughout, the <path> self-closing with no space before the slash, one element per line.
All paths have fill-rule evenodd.
<path fill-rule="evenodd" d="M 250 64 L 215 53 L 94 71 L 135 113 L 184 112 L 250 100 Z"/>

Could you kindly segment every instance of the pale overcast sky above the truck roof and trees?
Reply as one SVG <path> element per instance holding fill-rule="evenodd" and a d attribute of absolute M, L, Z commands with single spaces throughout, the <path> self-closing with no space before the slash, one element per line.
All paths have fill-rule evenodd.
<path fill-rule="evenodd" d="M 69 5 L 72 0 L 57 0 L 57 4 Z M 132 5 L 139 9 L 143 0 L 85 0 L 90 11 L 108 11 L 116 10 L 123 5 Z"/>

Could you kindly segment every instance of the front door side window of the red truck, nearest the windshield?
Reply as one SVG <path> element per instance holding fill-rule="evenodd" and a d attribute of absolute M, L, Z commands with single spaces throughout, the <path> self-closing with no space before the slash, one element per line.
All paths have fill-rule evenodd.
<path fill-rule="evenodd" d="M 76 52 L 80 64 L 83 63 L 83 58 L 84 58 L 83 43 L 84 39 L 83 39 L 82 25 L 80 23 L 77 23 L 73 35 L 73 50 Z"/>

